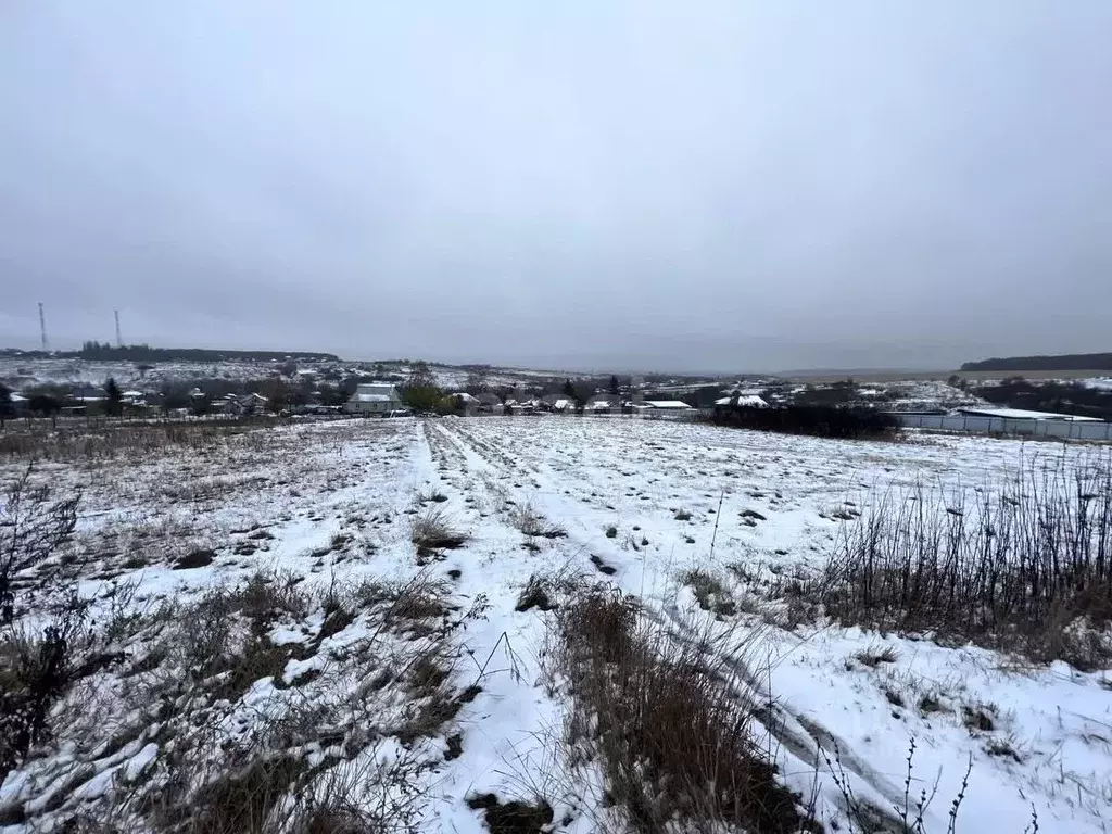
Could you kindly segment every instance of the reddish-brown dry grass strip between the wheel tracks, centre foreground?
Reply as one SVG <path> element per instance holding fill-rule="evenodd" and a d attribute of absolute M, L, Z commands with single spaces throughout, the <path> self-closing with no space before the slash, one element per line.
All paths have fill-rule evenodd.
<path fill-rule="evenodd" d="M 676 641 L 606 587 L 559 608 L 566 744 L 597 759 L 607 797 L 638 832 L 798 832 L 813 823 L 749 734 L 753 704 L 709 638 Z M 718 658 L 718 659 L 714 659 Z"/>

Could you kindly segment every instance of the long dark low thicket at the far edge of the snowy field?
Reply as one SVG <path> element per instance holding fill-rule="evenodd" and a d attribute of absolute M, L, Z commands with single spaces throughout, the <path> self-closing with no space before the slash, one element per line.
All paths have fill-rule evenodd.
<path fill-rule="evenodd" d="M 718 406 L 713 411 L 704 411 L 697 419 L 732 428 L 841 439 L 892 439 L 900 430 L 900 423 L 892 415 L 867 408 L 832 406 Z"/>

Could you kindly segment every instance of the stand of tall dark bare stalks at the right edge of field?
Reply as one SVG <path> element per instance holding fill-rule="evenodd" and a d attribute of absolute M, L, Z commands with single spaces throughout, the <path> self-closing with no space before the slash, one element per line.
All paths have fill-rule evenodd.
<path fill-rule="evenodd" d="M 1024 460 L 996 488 L 890 492 L 841 539 L 811 593 L 843 622 L 1064 659 L 1112 657 L 1112 456 Z"/>

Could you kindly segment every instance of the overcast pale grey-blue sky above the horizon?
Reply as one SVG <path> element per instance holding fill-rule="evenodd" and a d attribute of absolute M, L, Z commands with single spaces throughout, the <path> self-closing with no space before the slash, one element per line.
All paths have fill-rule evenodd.
<path fill-rule="evenodd" d="M 0 344 L 1112 350 L 1112 2 L 0 2 Z"/>

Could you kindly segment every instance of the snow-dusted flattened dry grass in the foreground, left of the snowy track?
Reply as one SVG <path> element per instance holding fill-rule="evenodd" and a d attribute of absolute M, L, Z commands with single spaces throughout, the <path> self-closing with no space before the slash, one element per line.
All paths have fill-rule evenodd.
<path fill-rule="evenodd" d="M 98 830 L 90 821 L 183 834 L 421 831 L 424 774 L 440 755 L 416 742 L 450 734 L 480 692 L 456 684 L 455 635 L 481 609 L 451 616 L 446 587 L 418 577 L 310 588 L 259 573 L 106 623 L 130 651 L 115 682 L 90 679 L 59 704 L 57 737 L 73 762 L 57 766 L 76 775 L 43 782 L 61 787 L 30 822 L 56 812 L 75 831 Z M 314 634 L 306 620 L 321 614 Z M 324 643 L 355 619 L 354 641 Z M 278 626 L 305 638 L 278 645 Z M 286 683 L 290 661 L 311 664 Z M 268 677 L 265 699 L 242 697 Z M 96 767 L 149 742 L 159 752 L 141 774 L 91 805 L 73 795 Z"/>

